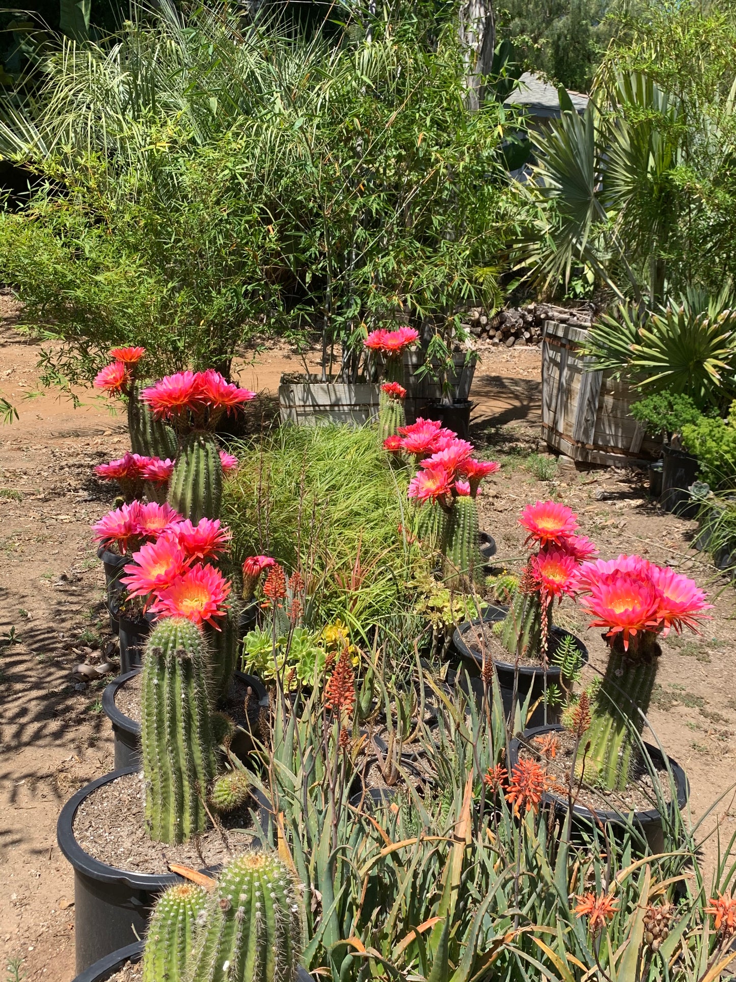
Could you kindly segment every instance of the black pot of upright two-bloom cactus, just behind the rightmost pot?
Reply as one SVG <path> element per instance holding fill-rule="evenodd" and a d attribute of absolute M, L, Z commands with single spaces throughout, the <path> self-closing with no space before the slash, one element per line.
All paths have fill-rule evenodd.
<path fill-rule="evenodd" d="M 506 616 L 506 611 L 502 607 L 489 607 L 483 616 L 483 621 L 486 623 L 494 624 L 498 621 L 502 621 Z M 464 624 L 459 625 L 455 628 L 452 635 L 452 647 L 454 648 L 455 654 L 460 659 L 460 671 L 457 673 L 459 677 L 460 684 L 464 684 L 465 673 L 467 672 L 470 677 L 470 685 L 473 690 L 473 695 L 480 706 L 483 701 L 483 682 L 481 682 L 480 674 L 483 668 L 483 661 L 479 655 L 472 651 L 464 641 L 464 634 L 467 631 L 473 629 L 473 627 L 478 627 L 481 624 L 480 620 L 477 621 L 466 621 Z M 561 627 L 552 627 L 551 630 L 551 642 L 554 638 L 561 639 L 565 634 L 569 634 L 569 631 L 563 630 Z M 573 635 L 574 637 L 575 635 Z M 588 649 L 580 640 L 579 637 L 575 637 L 575 642 L 580 650 L 583 662 L 588 661 Z M 552 655 L 553 648 L 551 643 Z M 513 677 L 514 677 L 514 666 L 508 662 L 499 662 L 494 660 L 496 665 L 496 672 L 499 676 L 500 694 L 503 701 L 503 711 L 508 715 L 512 708 L 513 700 Z M 541 668 L 533 667 L 531 665 L 520 665 L 518 670 L 518 681 L 516 685 L 517 699 L 519 703 L 523 703 L 526 700 L 527 695 L 531 691 L 532 696 L 530 699 L 530 706 L 533 705 L 538 699 L 542 699 L 545 693 L 545 676 Z M 554 666 L 550 665 L 547 670 L 547 685 L 555 684 L 558 688 L 561 688 L 560 683 L 560 670 Z M 529 726 L 542 726 L 545 723 L 545 712 L 547 712 L 547 723 L 556 723 L 560 718 L 560 709 L 553 706 L 545 706 L 543 703 L 537 706 L 537 708 L 532 713 L 530 720 L 528 721 Z"/>

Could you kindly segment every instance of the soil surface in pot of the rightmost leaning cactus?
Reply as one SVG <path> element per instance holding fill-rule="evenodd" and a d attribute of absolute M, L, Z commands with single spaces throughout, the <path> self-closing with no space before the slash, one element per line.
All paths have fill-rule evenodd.
<path fill-rule="evenodd" d="M 519 756 L 522 760 L 538 760 L 545 768 L 549 776 L 548 791 L 562 798 L 566 803 L 567 786 L 572 766 L 572 754 L 575 747 L 574 738 L 564 730 L 557 731 L 559 748 L 554 757 L 541 756 L 534 752 L 535 742 L 529 744 L 529 749 L 522 749 Z M 647 770 L 645 762 L 637 759 L 632 762 L 630 768 L 629 781 L 623 791 L 601 791 L 586 781 L 586 775 L 591 776 L 590 766 L 587 766 L 583 775 L 582 785 L 580 784 L 580 767 L 584 761 L 585 736 L 580 742 L 576 762 L 575 780 L 572 782 L 573 804 L 583 808 L 593 808 L 595 811 L 617 811 L 619 814 L 628 815 L 630 811 L 647 811 L 650 808 L 657 808 L 657 793 L 652 781 L 652 775 Z M 671 799 L 669 788 L 669 777 L 664 767 L 655 767 L 657 780 L 661 788 L 661 795 L 665 801 Z"/>

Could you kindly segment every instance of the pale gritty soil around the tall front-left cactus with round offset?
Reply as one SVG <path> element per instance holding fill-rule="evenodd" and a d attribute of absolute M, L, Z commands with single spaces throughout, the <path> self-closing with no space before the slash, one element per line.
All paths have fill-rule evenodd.
<path fill-rule="evenodd" d="M 257 808 L 255 801 L 248 802 Z M 219 866 L 252 844 L 248 805 L 221 816 L 221 828 L 209 829 L 181 846 L 154 843 L 146 834 L 143 776 L 116 778 L 82 801 L 74 822 L 79 846 L 94 859 L 136 873 L 168 873 L 169 863 L 200 869 Z"/>

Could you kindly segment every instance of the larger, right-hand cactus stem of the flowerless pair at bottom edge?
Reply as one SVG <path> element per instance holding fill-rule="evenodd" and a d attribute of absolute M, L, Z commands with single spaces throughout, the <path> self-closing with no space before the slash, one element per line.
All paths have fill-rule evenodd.
<path fill-rule="evenodd" d="M 277 856 L 237 856 L 220 875 L 206 914 L 188 982 L 296 978 L 302 950 L 299 904 L 289 870 Z"/>

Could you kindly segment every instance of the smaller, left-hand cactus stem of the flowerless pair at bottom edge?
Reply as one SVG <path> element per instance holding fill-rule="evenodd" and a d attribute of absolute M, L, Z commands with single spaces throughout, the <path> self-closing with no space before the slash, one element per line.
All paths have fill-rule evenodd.
<path fill-rule="evenodd" d="M 143 982 L 179 982 L 194 951 L 207 891 L 193 883 L 177 884 L 156 901 L 143 948 Z"/>

